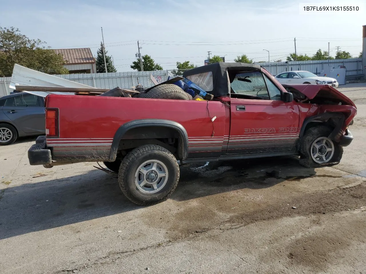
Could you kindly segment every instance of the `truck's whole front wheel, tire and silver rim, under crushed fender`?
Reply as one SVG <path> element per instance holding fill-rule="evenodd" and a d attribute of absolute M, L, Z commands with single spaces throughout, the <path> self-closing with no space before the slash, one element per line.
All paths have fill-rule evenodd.
<path fill-rule="evenodd" d="M 327 126 L 314 126 L 306 131 L 300 149 L 301 165 L 310 168 L 340 162 L 343 147 L 328 138 L 331 132 Z"/>

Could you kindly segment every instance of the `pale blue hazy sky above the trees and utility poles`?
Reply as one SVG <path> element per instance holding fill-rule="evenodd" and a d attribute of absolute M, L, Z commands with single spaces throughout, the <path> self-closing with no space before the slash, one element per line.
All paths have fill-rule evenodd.
<path fill-rule="evenodd" d="M 318 0 L 319 1 L 319 0 Z M 19 28 L 53 49 L 90 47 L 97 54 L 102 39 L 117 71 L 132 71 L 137 52 L 150 55 L 164 69 L 176 62 L 203 65 L 208 51 L 232 61 L 247 54 L 254 61 L 286 60 L 297 54 L 312 56 L 318 49 L 330 55 L 340 50 L 358 57 L 362 51 L 363 1 L 347 1 L 358 12 L 300 14 L 301 3 L 268 0 L 16 0 L 4 1 L 0 26 Z M 323 3 L 323 2 L 320 2 Z M 345 1 L 324 2 L 343 6 Z"/>

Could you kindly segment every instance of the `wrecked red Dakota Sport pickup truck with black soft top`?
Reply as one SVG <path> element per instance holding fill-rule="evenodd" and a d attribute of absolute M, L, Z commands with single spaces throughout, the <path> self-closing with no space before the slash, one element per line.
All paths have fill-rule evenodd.
<path fill-rule="evenodd" d="M 224 62 L 183 77 L 213 100 L 167 100 L 184 91 L 166 83 L 145 98 L 48 95 L 30 164 L 103 161 L 128 199 L 152 205 L 176 188 L 179 164 L 299 155 L 317 167 L 339 163 L 353 139 L 356 106 L 329 85 L 281 85 L 256 64 Z"/>

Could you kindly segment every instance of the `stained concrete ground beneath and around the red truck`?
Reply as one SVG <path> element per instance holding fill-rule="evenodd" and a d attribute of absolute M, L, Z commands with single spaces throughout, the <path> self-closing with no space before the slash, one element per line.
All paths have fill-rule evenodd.
<path fill-rule="evenodd" d="M 34 138 L 0 147 L 0 273 L 366 273 L 366 83 L 339 90 L 358 107 L 339 165 L 190 165 L 146 208 L 95 163 L 30 166 Z"/>

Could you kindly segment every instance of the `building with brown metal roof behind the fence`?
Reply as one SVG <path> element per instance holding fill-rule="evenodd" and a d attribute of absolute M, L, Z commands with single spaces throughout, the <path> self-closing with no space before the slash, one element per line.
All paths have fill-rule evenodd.
<path fill-rule="evenodd" d="M 81 49 L 54 49 L 66 61 L 70 73 L 96 73 L 95 59 L 89 47 Z"/>

